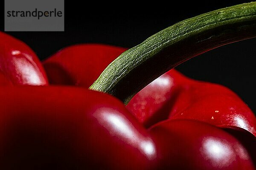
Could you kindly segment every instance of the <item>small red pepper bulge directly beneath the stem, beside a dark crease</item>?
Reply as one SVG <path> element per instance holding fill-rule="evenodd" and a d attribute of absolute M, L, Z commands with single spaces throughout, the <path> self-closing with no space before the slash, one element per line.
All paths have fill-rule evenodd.
<path fill-rule="evenodd" d="M 174 69 L 155 79 L 126 106 L 146 127 L 168 118 L 182 86 L 188 79 Z"/>

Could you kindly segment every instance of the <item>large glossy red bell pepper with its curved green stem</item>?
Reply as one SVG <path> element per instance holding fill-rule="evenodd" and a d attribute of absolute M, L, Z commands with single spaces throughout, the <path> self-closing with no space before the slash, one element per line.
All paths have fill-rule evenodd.
<path fill-rule="evenodd" d="M 63 86 L 1 86 L 0 166 L 254 170 L 253 145 L 223 130 L 244 130 L 241 134 L 255 144 L 255 116 L 232 91 L 188 79 L 174 70 L 140 90 L 188 58 L 255 37 L 255 12 L 256 3 L 213 11 L 178 23 L 127 51 L 105 45 L 69 47 L 44 62 L 50 82 Z M 221 15 L 209 17 L 212 14 Z M 195 25 L 187 27 L 187 23 Z M 172 44 L 173 29 L 184 31 L 183 26 L 189 36 L 180 34 Z M 225 28 L 224 33 L 220 28 Z M 175 51 L 188 42 L 202 46 L 194 49 L 192 43 L 188 51 Z M 177 58 L 170 59 L 170 51 Z M 71 55 L 75 62 L 68 62 Z M 87 90 L 88 86 L 96 91 Z"/>

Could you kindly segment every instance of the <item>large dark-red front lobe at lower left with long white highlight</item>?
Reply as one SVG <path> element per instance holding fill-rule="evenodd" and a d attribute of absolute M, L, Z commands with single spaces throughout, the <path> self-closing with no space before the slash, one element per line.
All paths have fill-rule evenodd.
<path fill-rule="evenodd" d="M 1 87 L 0 98 L 1 169 L 145 169 L 155 158 L 146 129 L 113 96 L 28 86 Z"/>

